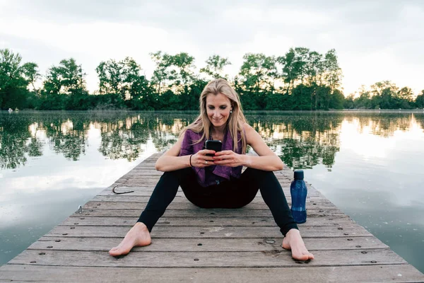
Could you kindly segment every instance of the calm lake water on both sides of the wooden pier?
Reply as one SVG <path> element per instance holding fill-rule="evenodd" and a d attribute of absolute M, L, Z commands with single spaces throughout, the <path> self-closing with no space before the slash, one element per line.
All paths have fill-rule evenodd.
<path fill-rule="evenodd" d="M 0 265 L 195 114 L 0 112 Z M 290 168 L 424 272 L 424 113 L 277 112 L 247 120 Z"/>

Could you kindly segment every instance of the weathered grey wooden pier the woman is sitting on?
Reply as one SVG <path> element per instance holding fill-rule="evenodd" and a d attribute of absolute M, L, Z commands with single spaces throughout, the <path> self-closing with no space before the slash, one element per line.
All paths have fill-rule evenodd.
<path fill-rule="evenodd" d="M 200 209 L 181 190 L 152 243 L 114 258 L 161 173 L 155 154 L 0 267 L 0 282 L 424 282 L 424 275 L 309 186 L 300 233 L 314 253 L 293 260 L 258 196 L 242 209 Z M 288 201 L 293 172 L 276 172 Z M 134 190 L 129 194 L 117 192 Z"/>

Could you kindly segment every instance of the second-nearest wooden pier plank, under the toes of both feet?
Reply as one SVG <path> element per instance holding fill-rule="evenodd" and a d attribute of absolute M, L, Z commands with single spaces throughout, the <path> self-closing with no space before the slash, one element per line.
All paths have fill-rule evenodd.
<path fill-rule="evenodd" d="M 107 252 L 72 250 L 25 250 L 10 264 L 81 267 L 304 267 L 348 265 L 404 265 L 389 249 L 316 250 L 315 259 L 299 262 L 289 250 L 260 252 L 143 252 L 112 257 Z M 32 263 L 31 263 L 32 262 Z"/>

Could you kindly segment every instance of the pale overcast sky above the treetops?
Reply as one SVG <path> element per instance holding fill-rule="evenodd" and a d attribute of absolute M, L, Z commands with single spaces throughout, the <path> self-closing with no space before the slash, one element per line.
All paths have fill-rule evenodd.
<path fill-rule="evenodd" d="M 424 0 L 107 1 L 0 0 L 0 48 L 42 74 L 73 57 L 98 88 L 95 67 L 136 59 L 150 77 L 150 52 L 188 52 L 197 70 L 212 54 L 234 76 L 247 52 L 336 49 L 345 95 L 382 80 L 424 89 Z"/>

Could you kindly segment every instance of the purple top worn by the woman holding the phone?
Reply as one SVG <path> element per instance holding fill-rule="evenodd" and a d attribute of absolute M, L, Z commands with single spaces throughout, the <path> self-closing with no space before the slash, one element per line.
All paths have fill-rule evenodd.
<path fill-rule="evenodd" d="M 190 154 L 196 154 L 201 149 L 204 149 L 205 139 L 200 141 L 198 144 L 194 144 L 194 141 L 197 141 L 201 138 L 202 133 L 193 132 L 191 129 L 187 129 L 184 133 L 184 138 L 182 139 L 181 150 L 179 151 L 179 156 L 186 156 Z M 242 154 L 242 141 L 240 139 L 240 133 L 238 137 L 238 149 L 237 154 Z M 230 131 L 226 131 L 224 134 L 223 140 L 223 151 L 232 150 L 232 137 Z M 205 168 L 196 168 L 193 167 L 194 172 L 196 173 L 197 182 L 202 187 L 207 187 L 209 185 L 216 185 L 223 180 L 230 180 L 233 178 L 240 178 L 242 174 L 243 166 L 237 167 L 228 167 L 228 166 L 209 166 Z"/>

